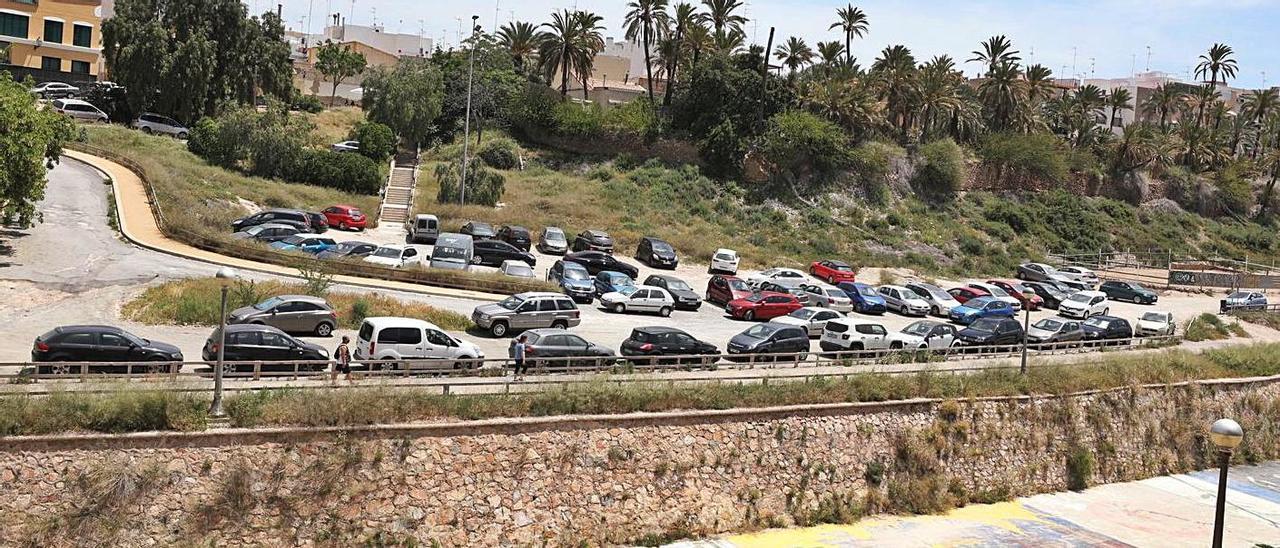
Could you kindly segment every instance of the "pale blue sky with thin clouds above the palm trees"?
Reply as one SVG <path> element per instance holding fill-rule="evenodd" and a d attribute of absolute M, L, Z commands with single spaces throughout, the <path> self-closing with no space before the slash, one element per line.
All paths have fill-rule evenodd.
<path fill-rule="evenodd" d="M 690 1 L 690 0 L 686 0 Z M 696 0 L 694 0 L 696 3 Z M 764 45 L 769 26 L 774 44 L 788 36 L 840 40 L 828 31 L 835 0 L 745 0 L 749 42 Z M 292 29 L 320 32 L 325 13 L 340 12 L 348 23 L 378 23 L 389 32 L 422 32 L 444 45 L 457 44 L 458 31 L 480 15 L 484 31 L 512 18 L 541 23 L 559 9 L 590 9 L 604 17 L 605 36 L 622 40 L 625 0 L 244 0 L 255 12 L 283 4 Z M 902 44 L 920 61 L 948 54 L 972 58 L 978 44 L 1007 35 L 1024 63 L 1039 63 L 1057 77 L 1125 78 L 1134 70 L 1174 73 L 1190 78 L 1197 58 L 1215 42 L 1235 49 L 1239 63 L 1234 87 L 1280 85 L 1280 0 L 876 0 L 854 3 L 867 12 L 870 33 L 854 42 L 863 67 L 890 45 Z M 310 22 L 307 14 L 311 14 Z M 1149 47 L 1149 64 L 1148 64 Z M 979 67 L 961 68 L 975 76 Z"/>

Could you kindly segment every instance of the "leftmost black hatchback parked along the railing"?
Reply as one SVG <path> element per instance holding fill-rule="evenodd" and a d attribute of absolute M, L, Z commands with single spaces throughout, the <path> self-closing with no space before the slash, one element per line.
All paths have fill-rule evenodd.
<path fill-rule="evenodd" d="M 155 365 L 134 366 L 137 373 L 169 371 L 168 364 L 180 362 L 182 351 L 178 347 L 157 341 L 147 341 L 120 328 L 110 325 L 65 325 L 36 337 L 31 347 L 33 362 L 65 361 L 148 361 Z M 125 366 L 92 366 L 95 373 L 125 373 Z M 109 371 L 108 371 L 109 370 Z M 74 374 L 74 365 L 37 366 L 38 374 Z"/>

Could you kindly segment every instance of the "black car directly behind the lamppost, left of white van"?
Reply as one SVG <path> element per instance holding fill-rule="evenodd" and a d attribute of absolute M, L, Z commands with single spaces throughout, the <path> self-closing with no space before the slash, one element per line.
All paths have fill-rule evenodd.
<path fill-rule="evenodd" d="M 205 341 L 201 359 L 207 362 L 218 360 L 218 329 Z M 329 352 L 319 344 L 298 341 L 287 333 L 261 324 L 236 324 L 227 326 L 227 347 L 223 350 L 224 361 L 270 361 L 261 367 L 266 370 L 292 371 L 294 361 L 323 361 L 329 360 Z M 300 370 L 321 371 L 326 364 L 306 364 L 298 366 Z M 237 364 L 224 366 L 223 373 L 252 371 L 251 364 Z"/>

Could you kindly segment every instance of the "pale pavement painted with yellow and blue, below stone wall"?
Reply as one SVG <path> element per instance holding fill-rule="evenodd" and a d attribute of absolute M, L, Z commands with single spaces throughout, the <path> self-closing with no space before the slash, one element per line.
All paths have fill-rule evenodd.
<path fill-rule="evenodd" d="M 1206 547 L 1217 475 L 1199 471 L 975 504 L 945 516 L 873 517 L 668 548 Z M 1231 469 L 1224 544 L 1280 545 L 1280 462 Z"/>

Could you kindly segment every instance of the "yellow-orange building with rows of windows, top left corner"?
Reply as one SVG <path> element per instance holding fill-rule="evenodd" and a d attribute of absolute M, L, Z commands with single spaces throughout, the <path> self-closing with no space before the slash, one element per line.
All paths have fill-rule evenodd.
<path fill-rule="evenodd" d="M 0 64 L 97 77 L 102 0 L 0 0 Z"/>

